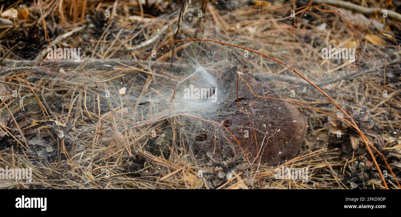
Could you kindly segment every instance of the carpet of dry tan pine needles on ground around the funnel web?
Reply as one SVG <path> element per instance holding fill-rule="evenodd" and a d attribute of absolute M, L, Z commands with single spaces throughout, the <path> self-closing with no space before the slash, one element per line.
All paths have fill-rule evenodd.
<path fill-rule="evenodd" d="M 271 167 L 257 163 L 250 166 L 242 158 L 228 165 L 207 157 L 199 159 L 182 137 L 174 137 L 171 145 L 152 147 L 155 143 L 148 132 L 158 129 L 158 132 L 165 130 L 171 131 L 171 135 L 180 135 L 182 128 L 177 126 L 186 117 L 130 128 L 137 122 L 129 119 L 128 110 L 122 108 L 134 106 L 139 110 L 140 98 L 130 105 L 127 101 L 117 104 L 101 101 L 96 88 L 107 85 L 118 91 L 119 87 L 111 83 L 113 80 L 126 79 L 136 91 L 147 89 L 148 83 L 137 84 L 139 75 L 133 73 L 138 71 L 148 78 L 163 76 L 180 80 L 169 69 L 188 67 L 184 64 L 184 52 L 188 48 L 196 46 L 206 52 L 209 46 L 215 50 L 219 46 L 226 48 L 182 41 L 174 49 L 172 45 L 166 46 L 156 61 L 148 61 L 152 50 L 159 46 L 174 39 L 194 37 L 257 50 L 296 68 L 352 116 L 400 180 L 401 69 L 397 64 L 400 22 L 365 17 L 345 9 L 338 11 L 330 6 L 307 7 L 308 2 L 301 2 L 296 8 L 292 1 L 264 3 L 262 7 L 239 5 L 229 8 L 229 12 L 224 5 L 213 6 L 209 2 L 205 17 L 196 21 L 190 19 L 188 12 L 197 14 L 206 1 L 191 6 L 163 2 L 142 5 L 128 1 L 72 0 L 64 1 L 63 5 L 58 0 L 41 1 L 19 8 L 19 17 L 0 28 L 5 58 L 0 72 L 0 168 L 32 168 L 33 175 L 32 183 L 0 180 L 0 188 L 385 188 L 379 171 L 371 163 L 371 155 L 363 146 L 364 138 L 350 124 L 310 109 L 300 108 L 309 125 L 299 157 Z M 368 6 L 375 6 L 367 2 Z M 21 3 L 3 5 L 1 12 L 17 8 Z M 288 17 L 294 8 L 296 20 Z M 99 14 L 106 10 L 110 18 Z M 90 16 L 85 19 L 87 14 Z M 180 14 L 184 17 L 182 22 Z M 170 27 L 178 23 L 178 31 L 176 26 Z M 12 49 L 18 41 L 23 46 L 18 44 Z M 325 61 L 320 57 L 322 48 L 328 44 L 344 47 L 353 46 L 353 42 L 358 44 L 355 62 Z M 54 45 L 85 48 L 81 62 L 45 59 L 47 47 Z M 282 98 L 350 120 L 323 94 L 281 64 L 266 62 L 257 55 L 245 58 L 242 50 L 232 58 L 239 65 L 247 65 L 253 73 L 264 74 Z M 63 70 L 74 76 L 67 76 Z M 15 89 L 20 94 L 17 98 L 11 96 Z M 293 89 L 299 90 L 295 98 L 287 94 Z M 383 97 L 383 90 L 388 92 L 387 97 Z M 34 120 L 47 121 L 32 126 Z M 336 139 L 338 130 L 345 132 L 341 140 Z M 40 152 L 41 145 L 28 144 L 38 133 L 54 141 L 52 147 L 47 147 L 54 148 L 52 155 Z M 380 169 L 387 171 L 388 188 L 399 188 L 383 159 L 372 151 Z M 308 182 L 275 179 L 276 169 L 282 167 L 307 168 Z"/>

